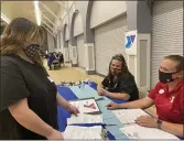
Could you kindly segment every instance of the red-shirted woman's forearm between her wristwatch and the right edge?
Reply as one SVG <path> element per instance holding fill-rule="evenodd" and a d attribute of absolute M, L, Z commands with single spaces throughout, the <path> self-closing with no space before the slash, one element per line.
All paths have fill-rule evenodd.
<path fill-rule="evenodd" d="M 183 124 L 162 122 L 161 129 L 177 137 L 184 137 Z"/>

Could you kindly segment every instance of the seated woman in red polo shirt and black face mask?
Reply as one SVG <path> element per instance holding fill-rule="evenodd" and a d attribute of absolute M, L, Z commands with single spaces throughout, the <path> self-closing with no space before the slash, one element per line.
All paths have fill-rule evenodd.
<path fill-rule="evenodd" d="M 108 109 L 145 109 L 155 105 L 158 118 L 141 116 L 136 122 L 184 137 L 183 61 L 183 56 L 180 55 L 164 57 L 159 68 L 160 82 L 145 98 L 127 104 L 111 102 L 107 105 Z"/>

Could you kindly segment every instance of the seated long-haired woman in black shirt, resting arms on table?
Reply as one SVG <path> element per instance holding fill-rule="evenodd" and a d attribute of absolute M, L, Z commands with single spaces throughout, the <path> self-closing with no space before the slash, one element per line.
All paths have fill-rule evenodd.
<path fill-rule="evenodd" d="M 98 88 L 99 95 L 129 101 L 139 99 L 134 77 L 129 72 L 126 59 L 121 54 L 111 58 L 108 76 L 105 77 L 101 85 Z"/>

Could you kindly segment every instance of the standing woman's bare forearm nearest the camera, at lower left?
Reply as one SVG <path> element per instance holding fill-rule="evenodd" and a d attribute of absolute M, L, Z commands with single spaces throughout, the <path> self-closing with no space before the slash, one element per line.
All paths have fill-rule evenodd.
<path fill-rule="evenodd" d="M 48 138 L 51 134 L 58 132 L 45 123 L 34 111 L 32 111 L 28 107 L 26 100 L 22 100 L 19 104 L 9 107 L 9 111 L 22 127 L 45 138 Z"/>

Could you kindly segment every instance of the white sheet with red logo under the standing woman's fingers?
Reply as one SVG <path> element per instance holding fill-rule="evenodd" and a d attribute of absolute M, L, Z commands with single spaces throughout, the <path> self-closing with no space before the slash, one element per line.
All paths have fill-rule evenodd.
<path fill-rule="evenodd" d="M 80 113 L 89 113 L 89 112 L 99 111 L 99 108 L 98 108 L 97 102 L 95 101 L 95 99 L 71 101 L 71 105 L 78 108 Z M 94 105 L 94 106 L 93 107 L 85 107 L 85 106 L 90 106 L 90 105 Z"/>

